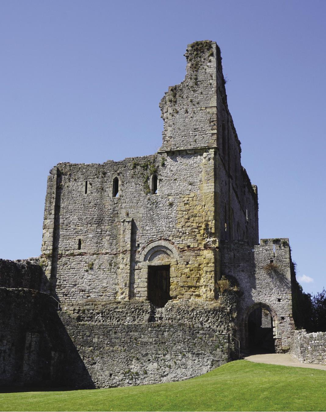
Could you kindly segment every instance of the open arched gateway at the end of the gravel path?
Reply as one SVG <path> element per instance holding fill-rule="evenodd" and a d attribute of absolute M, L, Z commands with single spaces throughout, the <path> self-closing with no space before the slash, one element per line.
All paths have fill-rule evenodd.
<path fill-rule="evenodd" d="M 275 353 L 276 314 L 268 305 L 256 303 L 245 318 L 246 346 L 250 353 Z"/>

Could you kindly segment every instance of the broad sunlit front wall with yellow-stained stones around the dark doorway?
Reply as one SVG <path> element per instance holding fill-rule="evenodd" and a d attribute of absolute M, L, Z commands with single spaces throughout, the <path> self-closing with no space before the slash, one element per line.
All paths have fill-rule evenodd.
<path fill-rule="evenodd" d="M 57 177 L 49 181 L 60 176 L 60 183 L 48 187 L 42 262 L 57 296 L 146 298 L 142 252 L 154 241 L 168 241 L 176 251 L 175 261 L 167 262 L 171 297 L 214 298 L 213 159 L 214 153 L 202 151 L 55 168 Z M 148 192 L 153 170 L 158 194 Z M 115 176 L 119 197 L 112 197 Z"/>

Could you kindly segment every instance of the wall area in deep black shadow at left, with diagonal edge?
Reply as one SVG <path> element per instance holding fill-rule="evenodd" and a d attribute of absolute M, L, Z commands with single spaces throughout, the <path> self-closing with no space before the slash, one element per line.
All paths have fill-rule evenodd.
<path fill-rule="evenodd" d="M 0 288 L 0 386 L 92 387 L 46 293 Z"/>

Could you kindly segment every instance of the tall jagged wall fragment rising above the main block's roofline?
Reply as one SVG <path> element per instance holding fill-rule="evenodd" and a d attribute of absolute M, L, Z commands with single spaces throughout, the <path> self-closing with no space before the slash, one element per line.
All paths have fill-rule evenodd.
<path fill-rule="evenodd" d="M 217 88 L 226 99 L 221 55 L 215 42 L 188 44 L 186 77 L 160 103 L 164 120 L 160 150 L 217 146 Z"/>

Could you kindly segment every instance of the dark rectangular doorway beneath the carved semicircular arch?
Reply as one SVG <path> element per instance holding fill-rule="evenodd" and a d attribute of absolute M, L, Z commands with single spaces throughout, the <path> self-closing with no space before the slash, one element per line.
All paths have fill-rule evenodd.
<path fill-rule="evenodd" d="M 148 266 L 148 299 L 163 308 L 170 297 L 170 265 Z"/>

